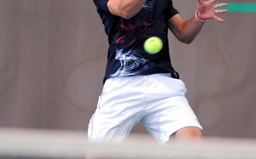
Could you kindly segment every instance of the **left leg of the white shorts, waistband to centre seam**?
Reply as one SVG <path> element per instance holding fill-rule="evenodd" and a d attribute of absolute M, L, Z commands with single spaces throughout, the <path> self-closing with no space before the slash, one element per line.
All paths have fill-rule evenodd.
<path fill-rule="evenodd" d="M 144 93 L 129 85 L 135 83 L 134 78 L 109 78 L 105 82 L 88 125 L 89 141 L 120 141 L 142 118 Z"/>

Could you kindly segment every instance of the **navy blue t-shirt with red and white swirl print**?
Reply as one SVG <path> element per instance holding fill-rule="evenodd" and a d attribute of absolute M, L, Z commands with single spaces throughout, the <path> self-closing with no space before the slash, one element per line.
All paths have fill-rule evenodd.
<path fill-rule="evenodd" d="M 147 0 L 130 19 L 111 14 L 107 1 L 93 0 L 109 41 L 104 82 L 109 77 L 175 73 L 167 39 L 167 21 L 178 13 L 172 0 Z M 153 36 L 162 39 L 163 48 L 156 54 L 149 54 L 144 50 L 144 43 Z"/>

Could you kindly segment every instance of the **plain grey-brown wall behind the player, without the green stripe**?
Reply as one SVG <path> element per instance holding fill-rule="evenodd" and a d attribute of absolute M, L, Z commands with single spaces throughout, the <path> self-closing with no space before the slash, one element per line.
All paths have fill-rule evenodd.
<path fill-rule="evenodd" d="M 197 1 L 173 4 L 188 20 Z M 255 138 L 256 13 L 219 16 L 190 45 L 169 34 L 171 60 L 206 136 Z M 86 132 L 107 48 L 92 0 L 0 0 L 0 126 Z"/>

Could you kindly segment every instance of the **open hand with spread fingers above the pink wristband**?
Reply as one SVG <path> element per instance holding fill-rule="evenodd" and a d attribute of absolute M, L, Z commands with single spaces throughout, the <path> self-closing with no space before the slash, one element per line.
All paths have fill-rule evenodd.
<path fill-rule="evenodd" d="M 227 3 L 220 3 L 214 5 L 215 2 L 218 0 L 210 0 L 210 1 L 205 1 L 203 2 L 202 0 L 198 0 L 198 5 L 197 5 L 197 15 L 199 19 L 205 20 L 205 19 L 215 19 L 219 22 L 224 22 L 223 19 L 217 17 L 215 14 L 216 13 L 226 13 L 228 10 L 215 10 L 216 8 L 221 8 L 224 6 L 227 6 Z"/>

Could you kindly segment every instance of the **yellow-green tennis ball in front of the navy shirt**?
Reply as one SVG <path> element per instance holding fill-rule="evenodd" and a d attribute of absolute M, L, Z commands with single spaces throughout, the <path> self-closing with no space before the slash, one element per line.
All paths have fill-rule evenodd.
<path fill-rule="evenodd" d="M 150 54 L 158 53 L 162 48 L 163 41 L 156 36 L 148 38 L 144 43 L 145 51 Z"/>

